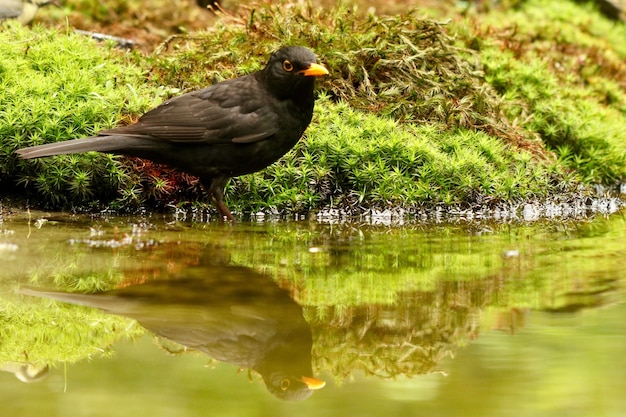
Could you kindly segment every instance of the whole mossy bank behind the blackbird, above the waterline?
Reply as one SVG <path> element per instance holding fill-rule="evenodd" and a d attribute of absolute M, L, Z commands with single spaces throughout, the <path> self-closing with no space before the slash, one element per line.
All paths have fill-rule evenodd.
<path fill-rule="evenodd" d="M 239 212 L 493 205 L 626 177 L 623 25 L 567 1 L 444 24 L 311 4 L 255 5 L 152 54 L 54 30 L 0 32 L 1 181 L 51 208 L 206 202 L 193 178 L 98 154 L 14 150 L 128 123 L 161 99 L 260 69 L 284 44 L 331 76 L 306 137 L 231 181 Z M 10 189 L 10 190 L 9 190 Z M 195 204 L 195 203 L 194 203 Z"/>

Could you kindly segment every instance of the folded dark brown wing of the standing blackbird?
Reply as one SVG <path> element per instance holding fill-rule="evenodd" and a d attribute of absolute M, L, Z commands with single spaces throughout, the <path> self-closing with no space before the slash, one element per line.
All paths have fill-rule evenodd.
<path fill-rule="evenodd" d="M 179 143 L 251 143 L 278 131 L 272 98 L 253 76 L 170 99 L 137 123 L 100 135 L 145 135 Z"/>

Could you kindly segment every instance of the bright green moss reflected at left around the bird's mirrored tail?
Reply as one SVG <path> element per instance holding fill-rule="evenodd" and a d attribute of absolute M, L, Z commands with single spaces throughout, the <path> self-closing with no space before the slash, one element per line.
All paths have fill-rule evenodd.
<path fill-rule="evenodd" d="M 53 227 L 53 226 L 50 226 Z M 29 363 L 58 366 L 87 358 L 111 354 L 110 347 L 122 339 L 135 339 L 144 333 L 132 320 L 104 315 L 95 309 L 64 305 L 13 294 L 17 288 L 12 278 L 28 273 L 22 285 L 65 288 L 68 291 L 94 292 L 110 289 L 121 279 L 109 267 L 97 269 L 98 262 L 85 262 L 91 256 L 81 249 L 68 250 L 56 245 L 45 257 L 30 254 L 30 261 L 20 263 L 20 274 L 12 267 L 0 280 L 0 364 Z M 50 248 L 49 248 L 50 249 Z M 34 259 L 33 259 L 34 258 Z M 3 262 L 13 263 L 0 251 Z"/>

